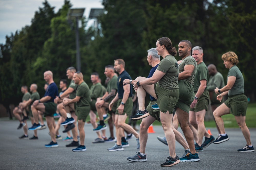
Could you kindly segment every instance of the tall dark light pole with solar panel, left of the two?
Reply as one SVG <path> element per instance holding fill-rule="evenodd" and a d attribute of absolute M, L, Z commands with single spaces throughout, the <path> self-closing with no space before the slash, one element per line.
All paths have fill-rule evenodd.
<path fill-rule="evenodd" d="M 77 51 L 77 71 L 81 71 L 81 58 L 79 49 L 79 32 L 78 32 L 78 20 L 82 19 L 85 8 L 69 9 L 66 19 L 68 21 L 76 20 L 76 51 Z"/>

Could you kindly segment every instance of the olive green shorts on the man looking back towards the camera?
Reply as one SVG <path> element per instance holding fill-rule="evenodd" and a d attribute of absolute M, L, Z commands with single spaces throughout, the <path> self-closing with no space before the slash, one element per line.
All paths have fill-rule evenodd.
<path fill-rule="evenodd" d="M 194 87 L 186 80 L 179 80 L 179 100 L 176 104 L 176 108 L 189 113 L 190 104 L 195 99 Z"/>

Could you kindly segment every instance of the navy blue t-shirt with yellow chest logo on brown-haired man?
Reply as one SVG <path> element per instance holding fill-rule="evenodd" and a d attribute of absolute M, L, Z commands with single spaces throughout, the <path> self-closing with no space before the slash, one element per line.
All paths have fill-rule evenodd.
<path fill-rule="evenodd" d="M 131 80 L 131 76 L 127 73 L 127 71 L 123 71 L 117 78 L 117 91 L 118 91 L 118 98 L 122 99 L 124 95 L 124 89 L 123 89 L 123 81 L 125 79 Z M 130 94 L 129 97 L 132 97 L 132 85 L 130 84 Z"/>

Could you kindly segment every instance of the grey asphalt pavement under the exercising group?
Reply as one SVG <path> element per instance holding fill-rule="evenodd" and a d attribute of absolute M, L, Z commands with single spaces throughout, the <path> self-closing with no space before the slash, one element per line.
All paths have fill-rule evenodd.
<path fill-rule="evenodd" d="M 56 122 L 57 123 L 57 122 Z M 19 139 L 23 130 L 17 130 L 18 121 L 0 120 L 0 169 L 255 169 L 256 151 L 240 153 L 246 145 L 246 141 L 239 128 L 226 128 L 230 139 L 220 144 L 211 144 L 204 151 L 199 152 L 199 162 L 180 162 L 172 167 L 161 167 L 169 156 L 168 147 L 159 142 L 157 136 L 164 136 L 162 126 L 153 126 L 155 133 L 148 134 L 146 146 L 147 162 L 130 162 L 127 157 L 133 156 L 139 150 L 136 149 L 135 137 L 129 141 L 130 146 L 124 151 L 109 152 L 107 149 L 114 146 L 114 142 L 93 144 L 97 137 L 92 131 L 91 124 L 85 124 L 85 152 L 72 152 L 73 148 L 65 147 L 70 142 L 57 140 L 59 147 L 46 148 L 44 145 L 50 142 L 48 128 L 38 130 L 38 140 Z M 28 121 L 28 126 L 31 126 Z M 66 134 L 62 133 L 62 138 Z M 207 128 L 217 137 L 216 128 Z M 181 129 L 178 129 L 181 132 Z M 256 128 L 249 128 L 251 141 L 256 147 Z M 107 129 L 107 137 L 109 130 Z M 28 132 L 29 137 L 33 132 Z M 180 157 L 184 148 L 175 143 L 176 154 Z M 256 148 L 255 148 L 256 149 Z"/>

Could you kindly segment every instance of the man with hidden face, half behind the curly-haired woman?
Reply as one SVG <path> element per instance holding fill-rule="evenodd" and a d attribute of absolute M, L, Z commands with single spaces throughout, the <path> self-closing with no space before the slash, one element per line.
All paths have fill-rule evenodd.
<path fill-rule="evenodd" d="M 211 100 L 211 111 L 212 113 L 216 110 L 217 107 L 219 107 L 223 102 L 224 102 L 224 98 L 222 98 L 221 101 L 217 100 L 217 95 L 216 93 L 214 93 L 214 89 L 216 87 L 218 87 L 219 89 L 221 89 L 222 87 L 225 86 L 224 83 L 224 78 L 222 76 L 222 74 L 220 72 L 217 71 L 217 68 L 214 64 L 209 64 L 209 66 L 207 66 L 208 71 L 209 71 L 209 95 L 210 95 L 210 100 Z M 215 119 L 214 119 L 215 121 Z M 218 132 L 220 134 L 220 129 L 219 126 L 217 125 L 216 121 L 215 121 L 216 127 L 218 129 Z"/>

